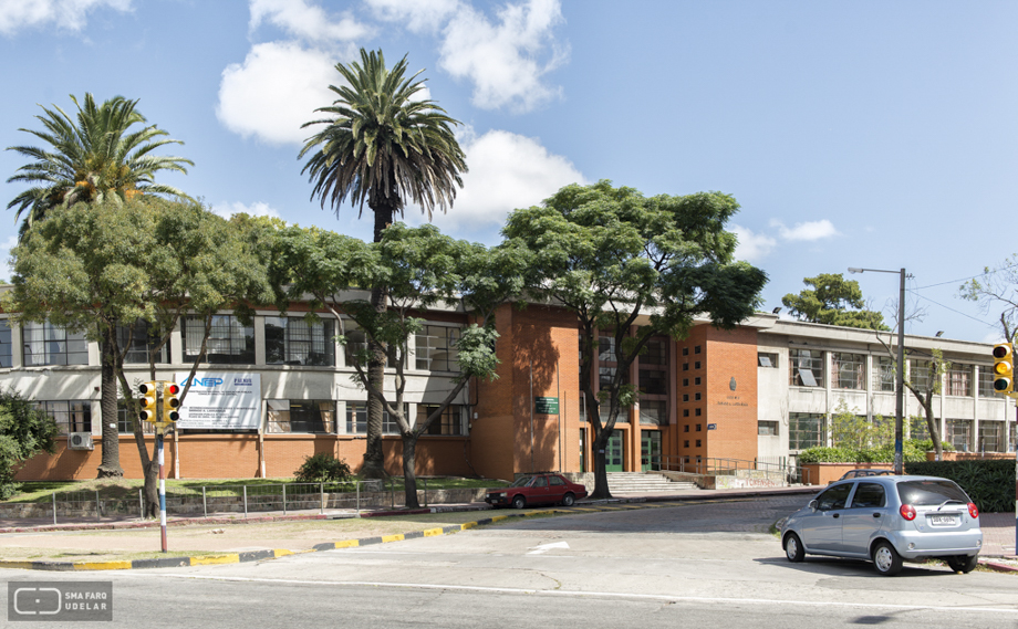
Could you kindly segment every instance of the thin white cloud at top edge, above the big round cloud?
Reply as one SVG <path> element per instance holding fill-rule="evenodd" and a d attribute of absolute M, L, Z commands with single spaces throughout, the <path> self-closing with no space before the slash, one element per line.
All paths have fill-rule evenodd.
<path fill-rule="evenodd" d="M 251 0 L 251 30 L 263 21 L 283 29 L 292 36 L 314 42 L 349 42 L 371 34 L 371 29 L 357 22 L 350 13 L 344 12 L 339 20 L 333 21 L 321 7 L 308 4 L 305 0 Z"/>

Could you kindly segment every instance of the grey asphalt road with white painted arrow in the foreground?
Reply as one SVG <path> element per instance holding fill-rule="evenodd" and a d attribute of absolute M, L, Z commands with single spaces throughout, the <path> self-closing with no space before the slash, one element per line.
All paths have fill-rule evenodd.
<path fill-rule="evenodd" d="M 259 564 L 0 578 L 112 580 L 117 627 L 1018 628 L 1015 575 L 788 563 L 767 530 L 801 502 L 578 512 Z"/>

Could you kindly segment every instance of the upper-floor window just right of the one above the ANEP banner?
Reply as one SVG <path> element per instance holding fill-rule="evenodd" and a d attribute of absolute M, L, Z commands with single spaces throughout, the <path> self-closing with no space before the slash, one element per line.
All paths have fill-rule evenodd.
<path fill-rule="evenodd" d="M 267 365 L 335 366 L 335 322 L 295 316 L 266 317 Z"/>

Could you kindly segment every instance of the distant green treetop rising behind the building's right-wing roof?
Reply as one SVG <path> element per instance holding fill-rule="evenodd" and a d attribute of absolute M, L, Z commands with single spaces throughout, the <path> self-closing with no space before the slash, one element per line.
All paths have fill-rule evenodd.
<path fill-rule="evenodd" d="M 846 281 L 841 273 L 821 273 L 802 282 L 812 287 L 802 290 L 798 295 L 789 293 L 781 297 L 785 307 L 800 321 L 889 329 L 881 313 L 864 308 L 865 302 L 859 282 Z"/>

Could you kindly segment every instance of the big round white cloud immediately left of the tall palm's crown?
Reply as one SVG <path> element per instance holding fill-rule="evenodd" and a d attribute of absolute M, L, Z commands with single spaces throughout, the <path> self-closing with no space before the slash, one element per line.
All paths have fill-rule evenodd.
<path fill-rule="evenodd" d="M 243 63 L 222 71 L 216 115 L 231 132 L 270 144 L 302 144 L 315 129 L 301 125 L 332 104 L 340 81 L 334 57 L 295 42 L 254 45 Z"/>

